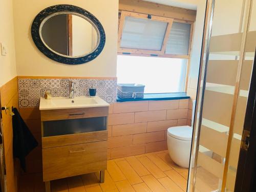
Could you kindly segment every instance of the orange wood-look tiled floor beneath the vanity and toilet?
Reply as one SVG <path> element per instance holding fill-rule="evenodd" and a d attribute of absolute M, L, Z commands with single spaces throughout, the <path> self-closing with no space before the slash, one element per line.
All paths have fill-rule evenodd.
<path fill-rule="evenodd" d="M 188 169 L 179 167 L 167 151 L 148 153 L 108 161 L 105 182 L 98 183 L 99 173 L 51 182 L 52 192 L 97 191 L 186 191 Z M 45 191 L 41 174 L 23 175 L 20 192 Z"/>

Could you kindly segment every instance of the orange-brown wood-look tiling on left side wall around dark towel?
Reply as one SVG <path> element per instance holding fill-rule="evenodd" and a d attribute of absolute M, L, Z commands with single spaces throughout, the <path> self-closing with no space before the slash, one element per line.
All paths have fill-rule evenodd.
<path fill-rule="evenodd" d="M 13 106 L 18 109 L 17 77 L 8 81 L 0 88 L 1 105 Z M 12 117 L 2 111 L 4 153 L 6 162 L 7 191 L 18 191 L 19 164 L 13 159 Z"/>

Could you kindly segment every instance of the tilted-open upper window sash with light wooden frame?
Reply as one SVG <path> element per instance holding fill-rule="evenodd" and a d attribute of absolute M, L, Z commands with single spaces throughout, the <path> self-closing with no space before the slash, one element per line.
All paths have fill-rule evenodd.
<path fill-rule="evenodd" d="M 118 52 L 163 55 L 173 20 L 122 11 L 118 31 Z"/>

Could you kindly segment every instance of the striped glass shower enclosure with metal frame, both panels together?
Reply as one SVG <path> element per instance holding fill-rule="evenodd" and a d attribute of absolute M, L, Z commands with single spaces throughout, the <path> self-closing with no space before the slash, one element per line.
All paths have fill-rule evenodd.
<path fill-rule="evenodd" d="M 190 191 L 233 191 L 256 45 L 255 4 L 213 0 L 208 10 Z"/>

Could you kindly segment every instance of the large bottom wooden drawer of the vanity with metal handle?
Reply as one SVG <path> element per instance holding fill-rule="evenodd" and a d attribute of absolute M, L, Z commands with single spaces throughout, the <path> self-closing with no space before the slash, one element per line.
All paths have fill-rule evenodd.
<path fill-rule="evenodd" d="M 42 149 L 43 180 L 105 170 L 106 148 L 106 141 L 99 141 Z"/>

